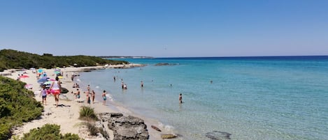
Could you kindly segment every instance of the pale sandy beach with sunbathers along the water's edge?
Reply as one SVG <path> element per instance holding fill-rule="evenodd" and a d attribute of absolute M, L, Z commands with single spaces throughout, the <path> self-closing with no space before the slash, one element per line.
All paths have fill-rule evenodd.
<path fill-rule="evenodd" d="M 109 65 L 107 68 L 120 68 L 120 67 L 134 67 L 135 64 L 129 64 L 129 65 Z M 116 113 L 117 111 L 115 109 L 111 109 L 110 100 L 106 101 L 106 106 L 102 105 L 102 101 L 96 100 L 94 104 L 87 104 L 87 102 L 76 102 L 75 96 L 71 93 L 71 91 L 76 92 L 76 88 L 73 88 L 73 81 L 71 81 L 71 75 L 73 72 L 78 74 L 78 72 L 85 71 L 85 70 L 97 70 L 97 69 L 103 69 L 104 66 L 95 66 L 95 67 L 83 67 L 83 68 L 60 68 L 62 72 L 64 72 L 64 75 L 60 81 L 62 81 L 62 87 L 67 88 L 69 90 L 69 93 L 61 94 L 59 96 L 59 106 L 55 106 L 55 98 L 52 95 L 47 96 L 46 105 L 44 105 L 44 111 L 43 115 L 36 119 L 32 120 L 29 123 L 24 123 L 22 127 L 17 127 L 14 132 L 13 136 L 21 137 L 22 134 L 29 132 L 29 130 L 36 128 L 36 127 L 42 127 L 43 125 L 50 123 L 50 124 L 57 124 L 60 125 L 61 132 L 64 133 L 73 133 L 78 134 L 79 137 L 83 139 L 104 139 L 103 137 L 92 137 L 90 136 L 89 132 L 87 132 L 87 127 L 84 125 L 81 125 L 83 123 L 83 120 L 78 119 L 79 118 L 79 111 L 80 107 L 82 106 L 89 106 L 94 108 L 94 111 L 96 111 L 97 114 L 99 113 Z M 55 69 L 51 70 L 45 70 L 45 72 L 48 74 L 48 77 L 50 79 L 55 79 Z M 5 72 L 2 72 L 2 74 L 11 74 L 6 75 L 6 77 L 10 77 L 12 79 L 17 79 L 18 74 L 22 73 L 23 71 L 12 71 L 9 72 L 9 70 L 6 70 Z M 27 78 L 21 78 L 20 81 L 23 81 L 27 84 L 32 84 L 32 88 L 29 89 L 34 92 L 34 98 L 38 102 L 42 102 L 42 97 L 40 96 L 41 87 L 37 83 L 37 77 L 36 73 L 33 73 L 31 70 L 25 70 L 24 71 L 28 77 Z M 67 74 L 67 77 L 66 77 Z M 80 87 L 80 99 L 85 100 L 85 91 L 87 87 Z M 96 93 L 96 96 L 101 96 L 101 93 Z M 131 111 L 124 109 L 122 107 L 114 107 L 119 109 L 120 113 L 125 115 L 131 115 L 136 116 L 138 118 L 141 118 L 145 121 L 145 124 L 147 125 L 148 132 L 150 134 L 150 139 L 162 139 L 161 134 L 169 134 L 170 132 L 167 132 L 163 127 L 159 127 L 159 123 L 157 120 L 152 120 L 151 118 L 145 118 L 143 116 L 137 116 L 136 114 L 133 114 Z M 152 129 L 150 126 L 155 125 L 159 127 L 159 129 L 162 130 L 162 132 L 157 132 L 156 130 Z M 113 139 L 113 132 L 109 132 L 110 139 Z"/>

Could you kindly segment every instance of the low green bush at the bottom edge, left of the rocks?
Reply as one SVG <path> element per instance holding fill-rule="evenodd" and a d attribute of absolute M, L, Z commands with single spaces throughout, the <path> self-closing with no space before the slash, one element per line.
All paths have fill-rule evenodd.
<path fill-rule="evenodd" d="M 77 134 L 60 134 L 60 126 L 54 124 L 45 124 L 41 128 L 34 128 L 25 133 L 22 140 L 80 140 Z"/>

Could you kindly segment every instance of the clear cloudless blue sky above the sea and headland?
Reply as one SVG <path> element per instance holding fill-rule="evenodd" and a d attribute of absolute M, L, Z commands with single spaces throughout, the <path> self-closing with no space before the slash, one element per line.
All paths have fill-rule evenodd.
<path fill-rule="evenodd" d="M 0 49 L 57 56 L 328 55 L 328 1 L 0 0 Z"/>

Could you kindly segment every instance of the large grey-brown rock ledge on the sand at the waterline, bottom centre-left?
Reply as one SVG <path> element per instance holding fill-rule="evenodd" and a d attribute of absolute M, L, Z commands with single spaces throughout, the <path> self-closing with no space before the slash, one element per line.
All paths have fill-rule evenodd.
<path fill-rule="evenodd" d="M 113 140 L 149 139 L 147 125 L 141 118 L 123 116 L 120 113 L 99 114 L 103 125 L 113 130 Z"/>

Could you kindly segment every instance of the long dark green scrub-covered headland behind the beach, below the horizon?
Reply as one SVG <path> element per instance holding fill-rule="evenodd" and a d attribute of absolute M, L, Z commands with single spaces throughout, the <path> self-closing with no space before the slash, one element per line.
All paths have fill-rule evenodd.
<path fill-rule="evenodd" d="M 28 52 L 20 52 L 13 49 L 0 50 L 0 72 L 8 69 L 22 68 L 56 68 L 68 67 L 70 65 L 76 67 L 96 66 L 106 64 L 128 64 L 127 61 L 113 61 L 101 59 L 97 56 L 52 56 L 52 54 L 31 54 Z"/>

